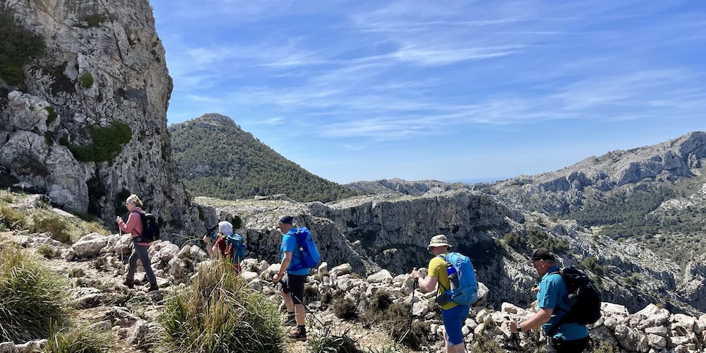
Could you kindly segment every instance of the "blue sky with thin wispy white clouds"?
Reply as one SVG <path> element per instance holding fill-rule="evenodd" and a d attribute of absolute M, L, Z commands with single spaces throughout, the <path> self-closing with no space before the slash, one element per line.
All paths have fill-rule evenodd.
<path fill-rule="evenodd" d="M 152 0 L 169 123 L 340 183 L 493 181 L 706 130 L 706 2 Z"/>

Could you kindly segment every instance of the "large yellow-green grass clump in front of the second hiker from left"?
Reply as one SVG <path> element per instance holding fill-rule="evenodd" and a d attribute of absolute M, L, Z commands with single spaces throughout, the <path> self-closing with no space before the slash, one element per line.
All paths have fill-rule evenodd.
<path fill-rule="evenodd" d="M 284 352 L 277 306 L 223 262 L 167 300 L 164 352 Z"/>

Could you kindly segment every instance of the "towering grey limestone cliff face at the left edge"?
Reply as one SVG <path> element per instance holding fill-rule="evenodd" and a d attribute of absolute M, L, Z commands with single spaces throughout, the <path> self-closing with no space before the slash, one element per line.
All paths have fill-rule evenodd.
<path fill-rule="evenodd" d="M 172 80 L 149 2 L 0 4 L 45 44 L 23 83 L 0 80 L 4 180 L 108 225 L 137 193 L 165 229 L 188 229 L 166 124 Z"/>

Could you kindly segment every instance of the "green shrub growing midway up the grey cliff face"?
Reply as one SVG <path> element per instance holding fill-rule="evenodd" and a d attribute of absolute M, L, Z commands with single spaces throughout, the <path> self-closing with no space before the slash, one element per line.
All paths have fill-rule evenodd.
<path fill-rule="evenodd" d="M 59 138 L 59 143 L 80 162 L 109 162 L 120 154 L 122 145 L 132 140 L 132 131 L 128 124 L 113 121 L 104 128 L 91 126 L 90 136 L 92 143 L 88 146 L 72 145 L 67 136 Z"/>

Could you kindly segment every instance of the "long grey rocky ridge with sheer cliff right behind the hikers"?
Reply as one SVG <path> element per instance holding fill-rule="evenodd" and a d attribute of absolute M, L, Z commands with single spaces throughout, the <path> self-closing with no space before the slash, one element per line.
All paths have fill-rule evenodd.
<path fill-rule="evenodd" d="M 287 199 L 220 201 L 196 198 L 206 224 L 232 220 L 240 224 L 251 256 L 273 262 L 281 234 L 277 217 L 295 215 L 299 225 L 312 230 L 325 261 L 330 265 L 351 263 L 352 270 L 369 275 L 383 268 L 408 273 L 428 263 L 426 250 L 433 234 L 447 234 L 456 249 L 472 257 L 479 280 L 490 289 L 489 301 L 529 304 L 534 269 L 526 265 L 529 249 L 513 249 L 503 240 L 508 232 L 527 237 L 528 229 L 546 233 L 552 241 L 563 241 L 559 251 L 566 265 L 593 261 L 601 267 L 598 277 L 604 299 L 637 311 L 662 302 L 667 308 L 702 313 L 705 308 L 693 298 L 704 296 L 702 270 L 690 268 L 692 285 L 681 287 L 681 269 L 663 261 L 638 244 L 623 244 L 596 236 L 575 221 L 550 220 L 527 213 L 478 191 L 448 191 L 425 196 L 361 196 L 336 203 L 297 203 Z M 590 261 L 589 261 L 590 260 Z M 684 291 L 690 292 L 685 296 Z M 681 291 L 681 292 L 680 292 Z"/>

